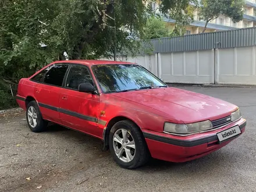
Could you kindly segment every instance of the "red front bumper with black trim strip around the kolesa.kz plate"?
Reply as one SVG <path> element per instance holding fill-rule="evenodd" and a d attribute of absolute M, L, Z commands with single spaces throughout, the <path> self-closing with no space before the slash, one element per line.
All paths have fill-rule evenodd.
<path fill-rule="evenodd" d="M 244 133 L 246 120 L 240 119 L 221 129 L 186 137 L 146 130 L 143 131 L 143 134 L 153 158 L 170 162 L 186 162 L 208 155 L 224 147 L 230 141 L 234 140 L 234 138 L 239 137 L 241 134 L 222 141 L 222 143 L 219 143 L 217 137 L 217 133 L 236 125 L 239 125 L 241 134 Z"/>

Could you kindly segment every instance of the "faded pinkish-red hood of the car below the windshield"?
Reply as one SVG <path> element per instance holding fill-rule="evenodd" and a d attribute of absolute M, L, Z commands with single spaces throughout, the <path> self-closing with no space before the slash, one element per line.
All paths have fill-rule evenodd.
<path fill-rule="evenodd" d="M 130 108 L 137 108 L 138 104 L 144 105 L 148 107 L 147 112 L 156 115 L 165 114 L 164 116 L 168 116 L 171 120 L 184 123 L 223 118 L 237 109 L 236 105 L 221 99 L 173 87 L 129 91 L 113 95 L 133 102 L 134 105 L 130 105 Z"/>

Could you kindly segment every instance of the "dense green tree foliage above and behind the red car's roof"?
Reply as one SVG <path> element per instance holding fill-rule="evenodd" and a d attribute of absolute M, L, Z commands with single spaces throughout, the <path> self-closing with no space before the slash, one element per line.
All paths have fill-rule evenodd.
<path fill-rule="evenodd" d="M 147 19 L 155 14 L 151 2 L 1 0 L 0 81 L 18 83 L 42 66 L 65 59 L 63 52 L 69 59 L 108 58 L 116 45 L 117 52 L 136 55 L 141 41 L 148 38 L 144 33 Z M 188 0 L 164 0 L 161 9 L 184 24 L 188 5 Z"/>

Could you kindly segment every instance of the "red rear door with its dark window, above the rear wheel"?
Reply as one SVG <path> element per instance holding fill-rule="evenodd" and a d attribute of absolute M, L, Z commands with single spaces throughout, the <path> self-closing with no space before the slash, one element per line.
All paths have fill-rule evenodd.
<path fill-rule="evenodd" d="M 59 117 L 59 93 L 62 90 L 63 80 L 69 64 L 55 64 L 50 67 L 40 82 L 35 86 L 37 99 L 42 117 L 52 122 L 61 123 Z"/>

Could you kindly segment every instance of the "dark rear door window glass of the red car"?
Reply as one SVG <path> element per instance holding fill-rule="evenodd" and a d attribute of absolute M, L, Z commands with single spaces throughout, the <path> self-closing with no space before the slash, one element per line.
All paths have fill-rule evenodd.
<path fill-rule="evenodd" d="M 68 67 L 68 65 L 52 66 L 49 72 L 45 75 L 44 83 L 61 87 Z"/>

